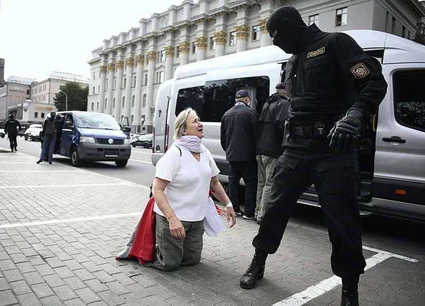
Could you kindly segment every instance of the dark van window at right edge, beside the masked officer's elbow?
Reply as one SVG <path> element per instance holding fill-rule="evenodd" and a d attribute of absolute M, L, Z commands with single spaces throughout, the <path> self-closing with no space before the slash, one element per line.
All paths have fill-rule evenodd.
<path fill-rule="evenodd" d="M 425 132 L 425 69 L 396 71 L 394 83 L 395 119 L 401 125 Z"/>

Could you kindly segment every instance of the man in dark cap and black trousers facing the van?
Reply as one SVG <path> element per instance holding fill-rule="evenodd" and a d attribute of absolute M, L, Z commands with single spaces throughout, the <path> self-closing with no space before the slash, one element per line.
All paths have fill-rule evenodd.
<path fill-rule="evenodd" d="M 258 112 L 252 109 L 248 91 L 236 92 L 236 104 L 221 118 L 220 141 L 229 162 L 229 197 L 236 215 L 253 220 L 257 194 L 257 161 L 255 129 Z M 238 201 L 239 181 L 245 183 L 245 211 Z"/>

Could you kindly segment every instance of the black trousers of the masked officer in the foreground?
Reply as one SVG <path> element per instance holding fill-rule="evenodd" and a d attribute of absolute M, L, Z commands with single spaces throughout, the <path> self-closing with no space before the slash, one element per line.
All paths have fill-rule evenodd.
<path fill-rule="evenodd" d="M 340 277 L 364 273 L 362 220 L 357 200 L 357 154 L 336 154 L 326 138 L 294 136 L 284 144 L 272 174 L 272 191 L 254 247 L 277 251 L 290 214 L 304 191 L 315 185 L 332 244 L 331 268 Z"/>

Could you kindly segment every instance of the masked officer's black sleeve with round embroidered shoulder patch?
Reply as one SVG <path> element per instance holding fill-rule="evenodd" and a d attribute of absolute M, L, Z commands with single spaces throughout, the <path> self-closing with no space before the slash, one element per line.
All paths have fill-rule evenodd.
<path fill-rule="evenodd" d="M 330 48 L 343 78 L 353 87 L 351 109 L 374 113 L 387 93 L 388 84 L 381 64 L 368 56 L 356 41 L 345 33 L 335 33 Z"/>

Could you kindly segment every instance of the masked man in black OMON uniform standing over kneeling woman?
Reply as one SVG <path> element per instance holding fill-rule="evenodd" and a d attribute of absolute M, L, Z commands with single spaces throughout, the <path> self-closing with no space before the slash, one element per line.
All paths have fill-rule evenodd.
<path fill-rule="evenodd" d="M 267 21 L 273 44 L 293 54 L 285 68 L 290 101 L 284 153 L 272 177 L 270 201 L 257 236 L 254 258 L 240 279 L 254 288 L 268 254 L 277 251 L 290 212 L 315 185 L 332 243 L 331 267 L 342 278 L 341 305 L 358 305 L 357 285 L 366 261 L 357 200 L 357 149 L 370 114 L 387 83 L 379 62 L 344 33 L 307 25 L 293 7 L 277 9 Z"/>

